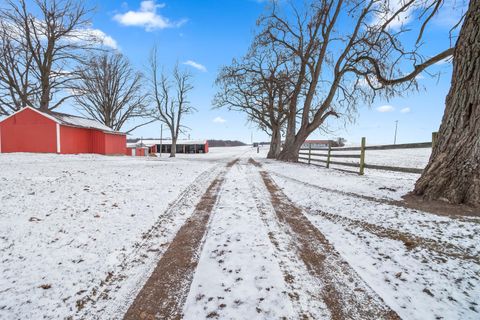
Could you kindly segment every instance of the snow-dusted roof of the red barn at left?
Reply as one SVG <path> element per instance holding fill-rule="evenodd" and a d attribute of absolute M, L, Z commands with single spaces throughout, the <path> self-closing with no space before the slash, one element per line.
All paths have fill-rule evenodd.
<path fill-rule="evenodd" d="M 24 111 L 25 109 L 33 110 L 33 111 L 43 115 L 44 117 L 47 117 L 50 120 L 55 121 L 56 123 L 58 123 L 60 125 L 73 126 L 73 127 L 79 127 L 79 128 L 87 128 L 87 129 L 96 129 L 96 130 L 101 130 L 101 131 L 104 131 L 104 132 L 124 134 L 122 132 L 112 130 L 111 128 L 107 127 L 106 125 L 104 125 L 104 124 L 102 124 L 102 123 L 100 123 L 96 120 L 93 120 L 93 119 L 88 119 L 88 118 L 84 118 L 84 117 L 74 116 L 74 115 L 71 115 L 71 114 L 60 113 L 60 112 L 55 112 L 55 111 L 43 112 L 43 111 L 40 111 L 40 110 L 32 108 L 32 107 L 28 107 L 28 106 L 19 110 L 19 111 L 17 111 L 17 112 L 15 112 L 15 113 L 13 113 L 13 114 L 11 114 L 10 116 L 8 116 L 7 118 L 5 118 L 3 120 L 6 120 L 6 119 L 10 118 L 10 117 L 14 116 L 15 114 Z"/>

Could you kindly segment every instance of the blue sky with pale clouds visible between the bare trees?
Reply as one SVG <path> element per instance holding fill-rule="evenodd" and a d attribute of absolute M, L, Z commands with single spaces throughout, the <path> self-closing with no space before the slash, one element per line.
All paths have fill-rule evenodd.
<path fill-rule="evenodd" d="M 452 0 L 453 1 L 453 0 Z M 255 22 L 264 12 L 266 2 L 255 0 L 165 0 L 157 1 L 87 1 L 96 7 L 93 28 L 108 36 L 139 70 L 146 70 L 150 49 L 156 43 L 160 63 L 171 68 L 176 62 L 190 61 L 195 89 L 190 100 L 198 112 L 189 115 L 186 125 L 191 138 L 235 139 L 250 142 L 268 140 L 268 136 L 246 122 L 241 113 L 212 110 L 214 81 L 219 68 L 232 58 L 241 57 L 250 44 Z M 458 12 L 446 6 L 426 35 L 427 50 L 448 47 L 448 31 Z M 453 17 L 453 19 L 452 19 Z M 193 66 L 192 66 L 193 65 Z M 195 68 L 196 66 L 196 68 Z M 444 101 L 450 86 L 451 64 L 434 66 L 439 78 L 427 74 L 419 79 L 421 90 L 408 92 L 390 101 L 377 100 L 372 106 L 358 106 L 354 123 L 330 123 L 333 132 L 315 132 L 311 138 L 345 137 L 356 143 L 366 136 L 370 143 L 393 142 L 395 121 L 398 142 L 429 141 L 438 129 Z M 71 105 L 63 111 L 74 112 Z M 383 112 L 380 112 L 383 111 Z M 131 124 L 133 125 L 133 123 Z M 128 126 L 127 126 L 128 128 Z M 158 137 L 160 123 L 137 129 L 133 137 Z M 164 135 L 168 135 L 165 131 Z"/>

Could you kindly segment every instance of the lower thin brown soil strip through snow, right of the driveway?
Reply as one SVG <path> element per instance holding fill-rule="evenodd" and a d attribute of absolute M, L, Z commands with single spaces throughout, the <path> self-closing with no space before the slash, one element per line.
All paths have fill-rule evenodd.
<path fill-rule="evenodd" d="M 469 255 L 464 252 L 463 248 L 457 247 L 448 242 L 435 241 L 428 238 L 422 238 L 408 232 L 401 232 L 395 229 L 385 228 L 365 221 L 358 221 L 350 219 L 344 216 L 336 215 L 333 213 L 324 212 L 321 210 L 312 211 L 314 214 L 321 215 L 322 217 L 334 222 L 343 223 L 351 227 L 359 227 L 372 233 L 378 237 L 389 238 L 393 240 L 401 241 L 408 249 L 414 249 L 416 247 L 425 248 L 430 251 L 435 251 L 440 255 L 446 255 L 454 258 L 460 258 L 463 260 L 472 260 L 474 262 L 480 261 L 477 256 Z"/>

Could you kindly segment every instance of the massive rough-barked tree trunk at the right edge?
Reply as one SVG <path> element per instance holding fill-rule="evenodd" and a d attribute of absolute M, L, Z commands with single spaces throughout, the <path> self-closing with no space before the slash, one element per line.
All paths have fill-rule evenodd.
<path fill-rule="evenodd" d="M 471 0 L 454 51 L 452 86 L 414 194 L 480 207 L 480 1 Z"/>

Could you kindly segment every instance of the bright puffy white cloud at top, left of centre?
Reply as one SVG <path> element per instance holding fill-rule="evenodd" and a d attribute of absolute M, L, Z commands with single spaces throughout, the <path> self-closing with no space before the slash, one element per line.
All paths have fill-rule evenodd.
<path fill-rule="evenodd" d="M 156 29 L 177 28 L 187 20 L 171 21 L 167 17 L 157 13 L 158 9 L 164 8 L 165 4 L 157 4 L 155 0 L 146 0 L 140 3 L 137 11 L 129 10 L 113 16 L 113 19 L 125 26 L 144 27 L 146 31 Z"/>

